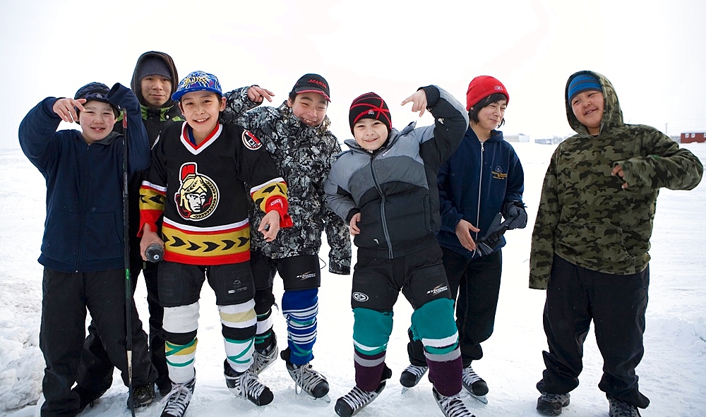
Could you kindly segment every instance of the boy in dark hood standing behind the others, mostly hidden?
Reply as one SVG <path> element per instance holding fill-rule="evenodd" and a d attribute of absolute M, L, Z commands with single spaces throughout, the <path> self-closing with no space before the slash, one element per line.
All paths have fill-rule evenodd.
<path fill-rule="evenodd" d="M 172 57 L 164 52 L 150 51 L 140 55 L 135 65 L 131 87 L 140 102 L 142 122 L 147 130 L 150 147 L 155 144 L 160 132 L 172 122 L 182 122 L 181 110 L 172 94 L 177 90 L 179 75 Z M 122 117 L 116 120 L 114 131 L 122 133 Z M 164 358 L 164 332 L 162 318 L 164 308 L 160 306 L 157 286 L 159 264 L 145 262 L 140 256 L 140 238 L 137 237 L 140 220 L 140 184 L 149 170 L 138 171 L 128 186 L 130 224 L 130 277 L 133 294 L 140 271 L 147 286 L 147 303 L 150 311 L 150 359 L 157 369 L 157 389 L 166 395 L 172 389 L 169 382 L 167 360 Z M 112 384 L 113 365 L 101 344 L 100 337 L 91 324 L 84 344 L 84 352 L 78 373 L 78 389 L 82 401 L 87 404 L 100 397 Z"/>

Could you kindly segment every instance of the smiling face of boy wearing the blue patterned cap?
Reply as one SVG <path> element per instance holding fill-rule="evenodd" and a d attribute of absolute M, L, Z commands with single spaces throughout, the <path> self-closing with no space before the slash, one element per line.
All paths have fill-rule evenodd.
<path fill-rule="evenodd" d="M 198 143 L 213 132 L 218 124 L 218 114 L 225 110 L 225 103 L 225 97 L 211 91 L 187 92 L 181 96 L 179 108 Z"/>

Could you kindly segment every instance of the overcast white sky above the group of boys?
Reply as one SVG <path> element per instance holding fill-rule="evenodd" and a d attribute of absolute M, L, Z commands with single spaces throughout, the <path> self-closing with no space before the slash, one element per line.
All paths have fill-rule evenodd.
<path fill-rule="evenodd" d="M 18 147 L 17 127 L 41 99 L 73 97 L 90 81 L 129 85 L 148 50 L 172 55 L 180 76 L 203 70 L 226 90 L 268 87 L 275 105 L 299 76 L 320 73 L 331 86 L 328 114 L 341 140 L 350 136 L 347 112 L 357 95 L 380 94 L 401 128 L 417 119 L 399 106 L 417 87 L 437 84 L 465 103 L 476 75 L 508 88 L 505 134 L 566 135 L 563 88 L 583 69 L 611 80 L 629 123 L 670 135 L 706 129 L 701 0 L 1 4 L 0 114 L 9 126 L 0 149 Z"/>

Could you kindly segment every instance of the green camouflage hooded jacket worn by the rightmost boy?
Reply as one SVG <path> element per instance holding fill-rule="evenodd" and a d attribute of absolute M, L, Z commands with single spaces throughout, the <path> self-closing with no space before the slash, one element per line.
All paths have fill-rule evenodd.
<path fill-rule="evenodd" d="M 544 176 L 530 252 L 533 289 L 546 289 L 555 253 L 597 272 L 645 270 L 659 188 L 690 190 L 703 174 L 699 159 L 668 136 L 623 123 L 613 85 L 603 75 L 592 75 L 604 93 L 600 131 L 588 134 L 565 91 L 568 121 L 578 134 L 556 147 Z M 611 175 L 616 164 L 623 168 L 626 189 L 620 177 Z"/>

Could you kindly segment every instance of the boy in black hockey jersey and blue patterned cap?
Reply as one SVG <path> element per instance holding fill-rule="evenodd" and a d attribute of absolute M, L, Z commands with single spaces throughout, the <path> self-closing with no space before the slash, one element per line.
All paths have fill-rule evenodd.
<path fill-rule="evenodd" d="M 186 122 L 162 131 L 140 192 L 143 258 L 150 244 L 164 246 L 159 288 L 172 392 L 162 417 L 181 417 L 193 394 L 198 297 L 206 279 L 220 312 L 229 389 L 258 406 L 270 404 L 272 392 L 249 371 L 256 313 L 246 199 L 249 194 L 267 213 L 258 232 L 272 241 L 280 227 L 292 224 L 287 184 L 255 135 L 218 123 L 226 100 L 214 75 L 186 75 L 172 99 Z M 246 190 L 244 183 L 253 186 Z M 160 238 L 154 230 L 161 214 Z"/>

